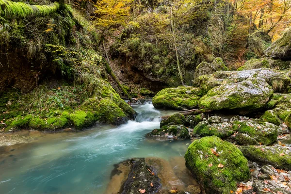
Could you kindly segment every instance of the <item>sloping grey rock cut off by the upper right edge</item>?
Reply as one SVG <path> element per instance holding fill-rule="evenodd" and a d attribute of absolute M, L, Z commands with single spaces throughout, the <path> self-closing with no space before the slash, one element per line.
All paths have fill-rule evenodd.
<path fill-rule="evenodd" d="M 291 60 L 291 30 L 266 49 L 265 54 L 275 59 Z"/>

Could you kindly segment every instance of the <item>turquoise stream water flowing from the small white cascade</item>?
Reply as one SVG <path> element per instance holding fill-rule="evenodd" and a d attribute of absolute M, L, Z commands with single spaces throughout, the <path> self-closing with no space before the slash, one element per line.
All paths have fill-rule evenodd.
<path fill-rule="evenodd" d="M 0 194 L 108 193 L 108 185 L 114 185 L 113 165 L 135 157 L 158 158 L 169 162 L 169 169 L 180 165 L 184 170 L 183 156 L 190 140 L 145 137 L 159 128 L 159 116 L 174 112 L 158 111 L 150 103 L 133 108 L 139 113 L 136 120 L 119 127 L 97 125 L 78 133 L 36 132 L 32 143 L 0 149 Z M 177 171 L 177 176 L 182 178 L 172 181 L 181 181 L 181 172 Z M 189 178 L 185 175 L 184 179 Z"/>

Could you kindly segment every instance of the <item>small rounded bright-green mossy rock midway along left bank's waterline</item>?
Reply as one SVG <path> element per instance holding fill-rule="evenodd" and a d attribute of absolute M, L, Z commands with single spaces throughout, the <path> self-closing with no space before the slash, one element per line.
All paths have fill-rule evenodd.
<path fill-rule="evenodd" d="M 97 121 L 93 113 L 85 111 L 75 111 L 70 115 L 70 119 L 77 130 L 91 127 Z"/>

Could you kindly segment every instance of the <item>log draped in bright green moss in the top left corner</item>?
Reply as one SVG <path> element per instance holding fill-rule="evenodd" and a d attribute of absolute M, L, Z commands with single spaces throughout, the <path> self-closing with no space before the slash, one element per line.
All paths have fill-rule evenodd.
<path fill-rule="evenodd" d="M 30 5 L 23 2 L 0 0 L 0 16 L 4 18 L 19 18 L 28 16 L 48 16 L 60 8 L 60 3 L 49 5 Z"/>

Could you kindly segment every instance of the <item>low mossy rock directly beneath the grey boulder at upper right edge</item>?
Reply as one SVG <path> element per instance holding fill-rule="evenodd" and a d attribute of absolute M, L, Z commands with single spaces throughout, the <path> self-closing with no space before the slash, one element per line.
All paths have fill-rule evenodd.
<path fill-rule="evenodd" d="M 258 69 L 258 68 L 272 68 L 272 69 L 287 69 L 290 68 L 290 61 L 281 61 L 275 60 L 271 57 L 268 58 L 261 58 L 261 59 L 251 59 L 245 62 L 243 69 L 250 70 L 250 69 Z"/>

